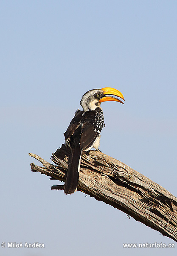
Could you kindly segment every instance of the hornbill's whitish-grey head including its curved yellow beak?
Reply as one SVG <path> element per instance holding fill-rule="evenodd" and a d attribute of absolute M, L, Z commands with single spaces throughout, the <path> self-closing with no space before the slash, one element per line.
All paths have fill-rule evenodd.
<path fill-rule="evenodd" d="M 123 103 L 120 99 L 117 99 L 115 96 L 124 100 L 124 96 L 122 95 L 122 93 L 111 87 L 89 90 L 82 96 L 80 105 L 82 106 L 84 111 L 87 111 L 95 110 L 97 107 L 100 106 L 101 102 L 105 101 L 112 100 Z"/>

